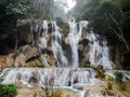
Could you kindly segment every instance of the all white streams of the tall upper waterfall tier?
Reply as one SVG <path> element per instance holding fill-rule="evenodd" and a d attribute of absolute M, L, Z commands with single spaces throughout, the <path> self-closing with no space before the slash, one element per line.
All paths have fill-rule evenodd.
<path fill-rule="evenodd" d="M 49 39 L 49 22 L 43 20 L 42 24 L 42 34 L 40 38 L 39 46 L 44 50 L 48 48 L 48 42 L 51 41 L 51 50 L 53 56 L 56 60 L 57 67 L 78 67 L 79 66 L 79 55 L 78 55 L 78 45 L 79 41 L 82 39 L 82 28 L 88 25 L 87 20 L 81 20 L 76 23 L 76 20 L 68 22 L 69 33 L 67 36 L 68 44 L 72 51 L 72 57 L 65 55 L 65 52 L 62 46 L 62 33 L 60 32 L 60 27 L 56 25 L 56 22 L 50 22 L 52 25 L 51 38 Z M 87 53 L 88 60 L 94 67 L 103 66 L 104 69 L 113 69 L 114 64 L 110 61 L 108 54 L 108 46 L 106 40 L 100 40 L 100 36 L 94 32 L 87 33 L 87 40 L 89 40 L 89 52 Z M 44 66 L 49 66 L 44 55 L 42 55 Z"/>

